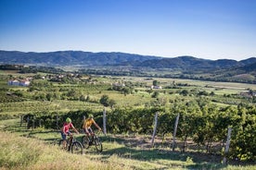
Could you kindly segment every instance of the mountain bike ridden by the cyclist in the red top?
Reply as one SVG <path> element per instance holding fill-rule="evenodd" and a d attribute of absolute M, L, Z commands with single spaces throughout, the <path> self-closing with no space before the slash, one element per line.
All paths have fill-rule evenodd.
<path fill-rule="evenodd" d="M 83 145 L 80 141 L 76 140 L 73 135 L 69 136 L 69 139 L 67 140 L 67 145 L 64 148 L 63 146 L 64 140 L 58 141 L 58 147 L 67 150 L 68 152 L 75 153 L 75 154 L 83 154 Z"/>

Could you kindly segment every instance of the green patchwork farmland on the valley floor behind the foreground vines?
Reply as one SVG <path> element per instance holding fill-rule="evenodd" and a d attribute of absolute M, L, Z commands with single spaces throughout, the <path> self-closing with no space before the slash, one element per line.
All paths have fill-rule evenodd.
<path fill-rule="evenodd" d="M 135 77 L 95 77 L 83 78 L 83 82 L 76 83 L 59 83 L 47 80 L 35 80 L 35 86 L 41 86 L 34 91 L 28 87 L 7 86 L 9 72 L 2 73 L 1 87 L 2 89 L 11 92 L 13 95 L 6 96 L 6 91 L 1 91 L 2 100 L 10 100 L 10 103 L 1 102 L 1 115 L 22 115 L 28 112 L 49 111 L 56 110 L 70 111 L 74 109 L 83 109 L 84 107 L 96 108 L 102 107 L 98 103 L 103 94 L 109 95 L 113 99 L 116 107 L 122 106 L 139 106 L 147 103 L 154 103 L 157 98 L 152 98 L 154 91 L 158 91 L 158 99 L 169 101 L 176 98 L 184 98 L 185 100 L 193 100 L 195 95 L 200 91 L 207 94 L 201 95 L 208 98 L 210 101 L 218 104 L 238 104 L 241 102 L 252 103 L 252 97 L 245 98 L 240 95 L 241 92 L 255 91 L 256 85 L 245 83 L 231 83 L 231 82 L 212 82 L 191 79 L 157 79 L 162 86 L 160 90 L 151 90 L 152 82 L 155 79 L 135 78 Z M 44 74 L 42 74 L 43 76 Z M 13 74 L 13 77 L 31 77 L 32 75 Z M 88 82 L 87 80 L 90 79 Z M 123 91 L 109 91 L 113 83 L 126 84 L 129 94 L 126 95 Z M 43 87 L 47 86 L 47 87 Z M 189 94 L 186 96 L 180 95 L 181 91 L 187 90 Z M 66 99 L 61 98 L 67 91 L 75 91 Z M 214 95 L 210 95 L 213 92 Z M 21 97 L 17 97 L 22 95 Z M 46 95 L 51 99 L 47 99 Z M 89 98 L 84 101 L 79 98 Z M 11 101 L 13 100 L 13 101 Z M 17 100 L 17 101 L 16 101 Z M 19 102 L 19 101 L 22 102 Z M 168 103 L 167 103 L 168 104 Z"/>

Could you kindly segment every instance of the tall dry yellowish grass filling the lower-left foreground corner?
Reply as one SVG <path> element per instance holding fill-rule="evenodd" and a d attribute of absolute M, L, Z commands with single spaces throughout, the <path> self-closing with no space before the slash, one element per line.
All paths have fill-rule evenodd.
<path fill-rule="evenodd" d="M 43 141 L 0 132 L 0 169 L 131 169 L 74 155 Z"/>

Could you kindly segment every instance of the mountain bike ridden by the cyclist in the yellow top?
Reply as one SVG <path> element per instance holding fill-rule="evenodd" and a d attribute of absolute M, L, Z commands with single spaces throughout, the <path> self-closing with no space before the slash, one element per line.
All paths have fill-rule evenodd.
<path fill-rule="evenodd" d="M 96 152 L 102 152 L 103 150 L 102 142 L 98 138 L 98 136 L 95 133 L 93 133 L 93 135 L 91 135 L 90 137 L 88 137 L 87 135 L 83 136 L 82 138 L 83 148 L 88 149 L 90 146 L 95 145 Z"/>

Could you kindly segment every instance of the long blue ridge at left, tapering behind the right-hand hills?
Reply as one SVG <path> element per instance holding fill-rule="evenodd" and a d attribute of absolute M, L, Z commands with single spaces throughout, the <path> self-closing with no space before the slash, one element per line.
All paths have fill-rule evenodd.
<path fill-rule="evenodd" d="M 113 66 L 130 65 L 157 56 L 133 55 L 124 53 L 91 53 L 82 51 L 59 51 L 49 53 L 24 53 L 17 51 L 0 51 L 0 64 L 31 64 L 47 66 Z"/>

